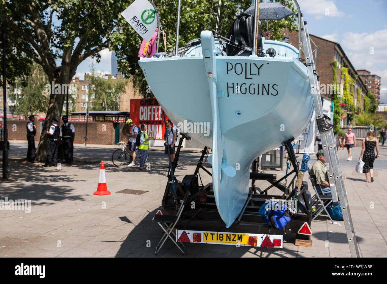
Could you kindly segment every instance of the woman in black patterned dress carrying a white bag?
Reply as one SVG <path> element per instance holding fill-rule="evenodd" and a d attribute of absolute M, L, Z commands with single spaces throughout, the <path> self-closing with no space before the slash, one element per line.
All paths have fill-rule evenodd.
<path fill-rule="evenodd" d="M 377 154 L 376 157 L 374 151 L 375 148 Z M 371 181 L 373 182 L 373 161 L 379 156 L 378 141 L 375 138 L 373 131 L 368 131 L 367 138 L 363 139 L 363 149 L 361 149 L 360 159 L 361 155 L 363 155 L 363 173 L 365 173 L 366 182 L 368 182 L 368 172 L 370 173 Z"/>

